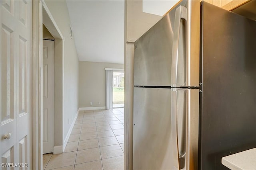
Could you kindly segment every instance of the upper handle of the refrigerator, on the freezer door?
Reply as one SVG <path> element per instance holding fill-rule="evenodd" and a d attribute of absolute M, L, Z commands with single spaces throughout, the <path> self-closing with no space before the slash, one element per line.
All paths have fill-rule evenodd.
<path fill-rule="evenodd" d="M 176 8 L 175 20 L 174 20 L 174 31 L 173 31 L 174 35 L 173 35 L 173 44 L 172 44 L 172 68 L 171 68 L 171 86 L 172 87 L 177 87 L 180 24 L 182 20 L 187 21 L 187 16 L 188 16 L 188 11 L 185 6 L 179 6 L 178 8 Z"/>

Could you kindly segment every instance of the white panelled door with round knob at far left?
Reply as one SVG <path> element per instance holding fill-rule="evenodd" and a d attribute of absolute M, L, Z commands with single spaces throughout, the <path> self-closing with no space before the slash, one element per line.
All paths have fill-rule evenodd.
<path fill-rule="evenodd" d="M 32 1 L 1 0 L 0 3 L 0 154 L 1 163 L 11 166 L 2 169 L 13 169 L 12 166 L 31 169 Z"/>

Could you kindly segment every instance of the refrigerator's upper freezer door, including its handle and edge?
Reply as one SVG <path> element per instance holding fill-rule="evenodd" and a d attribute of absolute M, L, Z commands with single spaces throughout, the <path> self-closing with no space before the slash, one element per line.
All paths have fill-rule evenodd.
<path fill-rule="evenodd" d="M 177 17 L 186 18 L 176 19 L 178 30 Z M 174 35 L 178 35 L 175 40 Z M 199 39 L 200 2 L 180 1 L 134 43 L 134 86 L 171 86 L 174 51 L 178 55 L 174 86 L 199 86 Z"/>

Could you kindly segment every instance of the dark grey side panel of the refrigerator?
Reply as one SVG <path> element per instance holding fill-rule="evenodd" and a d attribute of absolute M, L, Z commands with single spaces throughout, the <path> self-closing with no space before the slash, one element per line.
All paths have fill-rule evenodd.
<path fill-rule="evenodd" d="M 202 5 L 200 170 L 256 147 L 256 22 Z"/>

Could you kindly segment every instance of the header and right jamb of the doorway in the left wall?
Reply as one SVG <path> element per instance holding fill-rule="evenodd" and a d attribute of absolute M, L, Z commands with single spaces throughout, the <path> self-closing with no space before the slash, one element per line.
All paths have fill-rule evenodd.
<path fill-rule="evenodd" d="M 54 21 L 50 10 L 43 4 L 44 26 L 54 37 L 54 154 L 63 152 L 63 59 L 64 59 L 64 36 Z"/>

